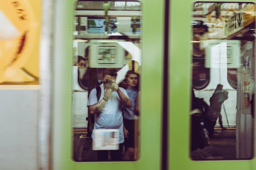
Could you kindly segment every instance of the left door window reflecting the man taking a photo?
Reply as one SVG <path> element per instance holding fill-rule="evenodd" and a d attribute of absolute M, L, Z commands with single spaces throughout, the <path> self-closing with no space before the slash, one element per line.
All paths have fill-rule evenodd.
<path fill-rule="evenodd" d="M 73 159 L 137 161 L 141 3 L 80 0 L 74 15 Z"/>

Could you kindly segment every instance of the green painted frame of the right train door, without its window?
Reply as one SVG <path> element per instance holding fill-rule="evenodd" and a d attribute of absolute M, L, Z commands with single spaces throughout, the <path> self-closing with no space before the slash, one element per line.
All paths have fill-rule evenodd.
<path fill-rule="evenodd" d="M 192 30 L 190 21 L 193 2 L 195 1 L 171 0 L 169 7 L 169 169 L 256 169 L 255 158 L 250 161 L 192 161 L 190 159 L 189 111 L 192 75 L 192 51 L 190 50 Z"/>

